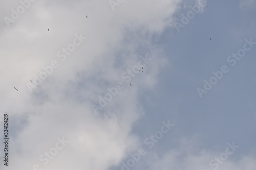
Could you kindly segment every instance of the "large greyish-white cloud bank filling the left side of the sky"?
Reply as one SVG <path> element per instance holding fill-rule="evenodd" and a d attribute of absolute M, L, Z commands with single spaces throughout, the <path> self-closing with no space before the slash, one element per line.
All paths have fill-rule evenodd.
<path fill-rule="evenodd" d="M 166 21 L 172 20 L 179 1 L 125 1 L 115 12 L 108 1 L 67 2 L 36 1 L 10 28 L 1 25 L 2 109 L 10 119 L 28 116 L 24 126 L 10 124 L 18 131 L 10 140 L 12 169 L 32 169 L 34 164 L 49 170 L 107 169 L 139 143 L 131 134 L 133 123 L 143 114 L 139 91 L 154 87 L 165 61 L 151 37 L 169 26 Z M 61 62 L 57 52 L 79 33 L 88 38 Z M 121 74 L 145 54 L 153 60 L 130 86 Z M 30 93 L 26 83 L 52 60 L 59 67 Z M 91 104 L 118 81 L 124 88 L 104 108 L 109 114 L 95 115 Z M 70 142 L 43 165 L 38 157 L 62 136 Z"/>

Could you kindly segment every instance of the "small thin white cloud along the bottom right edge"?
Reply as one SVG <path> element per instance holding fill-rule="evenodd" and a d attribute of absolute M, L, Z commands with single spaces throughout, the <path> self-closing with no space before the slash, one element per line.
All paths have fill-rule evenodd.
<path fill-rule="evenodd" d="M 252 170 L 256 168 L 255 154 L 247 156 L 242 155 L 240 158 L 238 158 L 238 160 L 236 160 L 233 158 L 237 157 L 234 156 L 236 155 L 236 151 L 233 154 L 228 155 L 227 159 L 222 161 L 218 167 L 216 164 L 211 166 L 209 162 L 212 159 L 215 159 L 215 157 L 220 157 L 220 154 L 226 151 L 225 149 L 228 147 L 228 145 L 224 146 L 223 150 L 218 152 L 216 150 L 199 149 L 199 144 L 188 141 L 194 140 L 183 139 L 178 148 L 169 150 L 164 155 L 154 154 L 154 156 L 148 160 L 148 164 L 150 164 L 151 169 Z M 232 144 L 232 142 L 230 143 Z M 213 161 L 212 163 L 217 163 L 217 161 Z"/>

